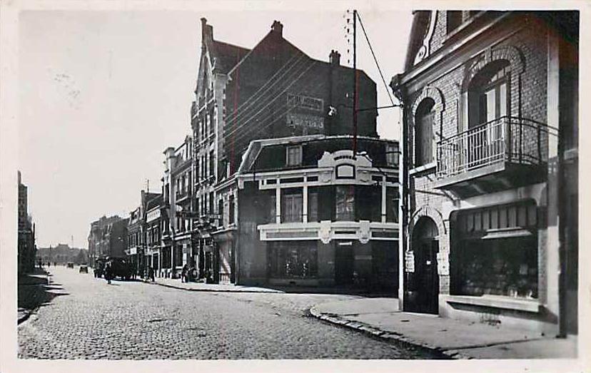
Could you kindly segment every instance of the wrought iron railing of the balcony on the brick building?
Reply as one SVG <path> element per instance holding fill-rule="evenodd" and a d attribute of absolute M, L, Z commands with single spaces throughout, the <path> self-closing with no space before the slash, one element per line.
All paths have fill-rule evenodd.
<path fill-rule="evenodd" d="M 542 162 L 542 140 L 548 127 L 535 121 L 504 116 L 441 140 L 437 145 L 437 177 L 508 162 Z"/>

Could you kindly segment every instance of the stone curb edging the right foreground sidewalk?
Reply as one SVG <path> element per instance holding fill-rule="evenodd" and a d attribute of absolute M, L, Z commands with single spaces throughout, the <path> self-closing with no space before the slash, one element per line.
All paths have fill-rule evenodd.
<path fill-rule="evenodd" d="M 337 317 L 337 316 L 333 316 L 333 315 L 327 316 L 327 315 L 323 314 L 322 312 L 319 312 L 318 310 L 316 310 L 315 307 L 310 308 L 310 315 L 313 315 L 318 320 L 323 320 L 323 321 L 330 322 L 335 325 L 341 325 L 343 327 L 355 329 L 358 332 L 370 334 L 370 335 L 373 335 L 373 337 L 385 339 L 386 341 L 395 340 L 398 342 L 413 344 L 416 347 L 422 347 L 425 349 L 429 349 L 432 352 L 435 352 L 438 354 L 443 354 L 443 356 L 449 357 L 450 359 L 472 359 L 472 357 L 462 354 L 462 353 L 458 352 L 457 350 L 440 349 L 439 347 L 432 346 L 428 343 L 415 341 L 414 339 L 405 337 L 403 334 L 400 334 L 397 332 L 385 332 L 383 330 L 377 329 L 375 327 L 371 327 L 369 325 L 363 325 L 360 322 L 353 322 L 353 321 L 345 320 L 341 317 Z"/>

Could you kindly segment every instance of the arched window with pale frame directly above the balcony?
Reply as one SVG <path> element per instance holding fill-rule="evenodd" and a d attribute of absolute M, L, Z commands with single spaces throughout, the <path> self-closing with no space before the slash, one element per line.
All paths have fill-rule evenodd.
<path fill-rule="evenodd" d="M 507 116 L 509 110 L 509 61 L 489 63 L 468 86 L 468 128 Z"/>

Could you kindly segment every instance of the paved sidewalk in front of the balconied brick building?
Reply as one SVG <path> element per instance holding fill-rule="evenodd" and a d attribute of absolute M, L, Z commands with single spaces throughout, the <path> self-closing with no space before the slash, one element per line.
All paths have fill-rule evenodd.
<path fill-rule="evenodd" d="M 577 338 L 539 333 L 437 315 L 400 312 L 395 298 L 362 298 L 312 307 L 320 320 L 358 329 L 384 339 L 417 344 L 456 359 L 575 358 Z"/>

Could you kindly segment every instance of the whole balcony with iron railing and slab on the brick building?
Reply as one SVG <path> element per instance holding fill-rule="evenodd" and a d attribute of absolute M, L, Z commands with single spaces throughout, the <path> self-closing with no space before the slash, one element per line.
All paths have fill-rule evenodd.
<path fill-rule="evenodd" d="M 445 138 L 435 188 L 465 198 L 540 182 L 548 132 L 542 123 L 502 117 Z"/>

